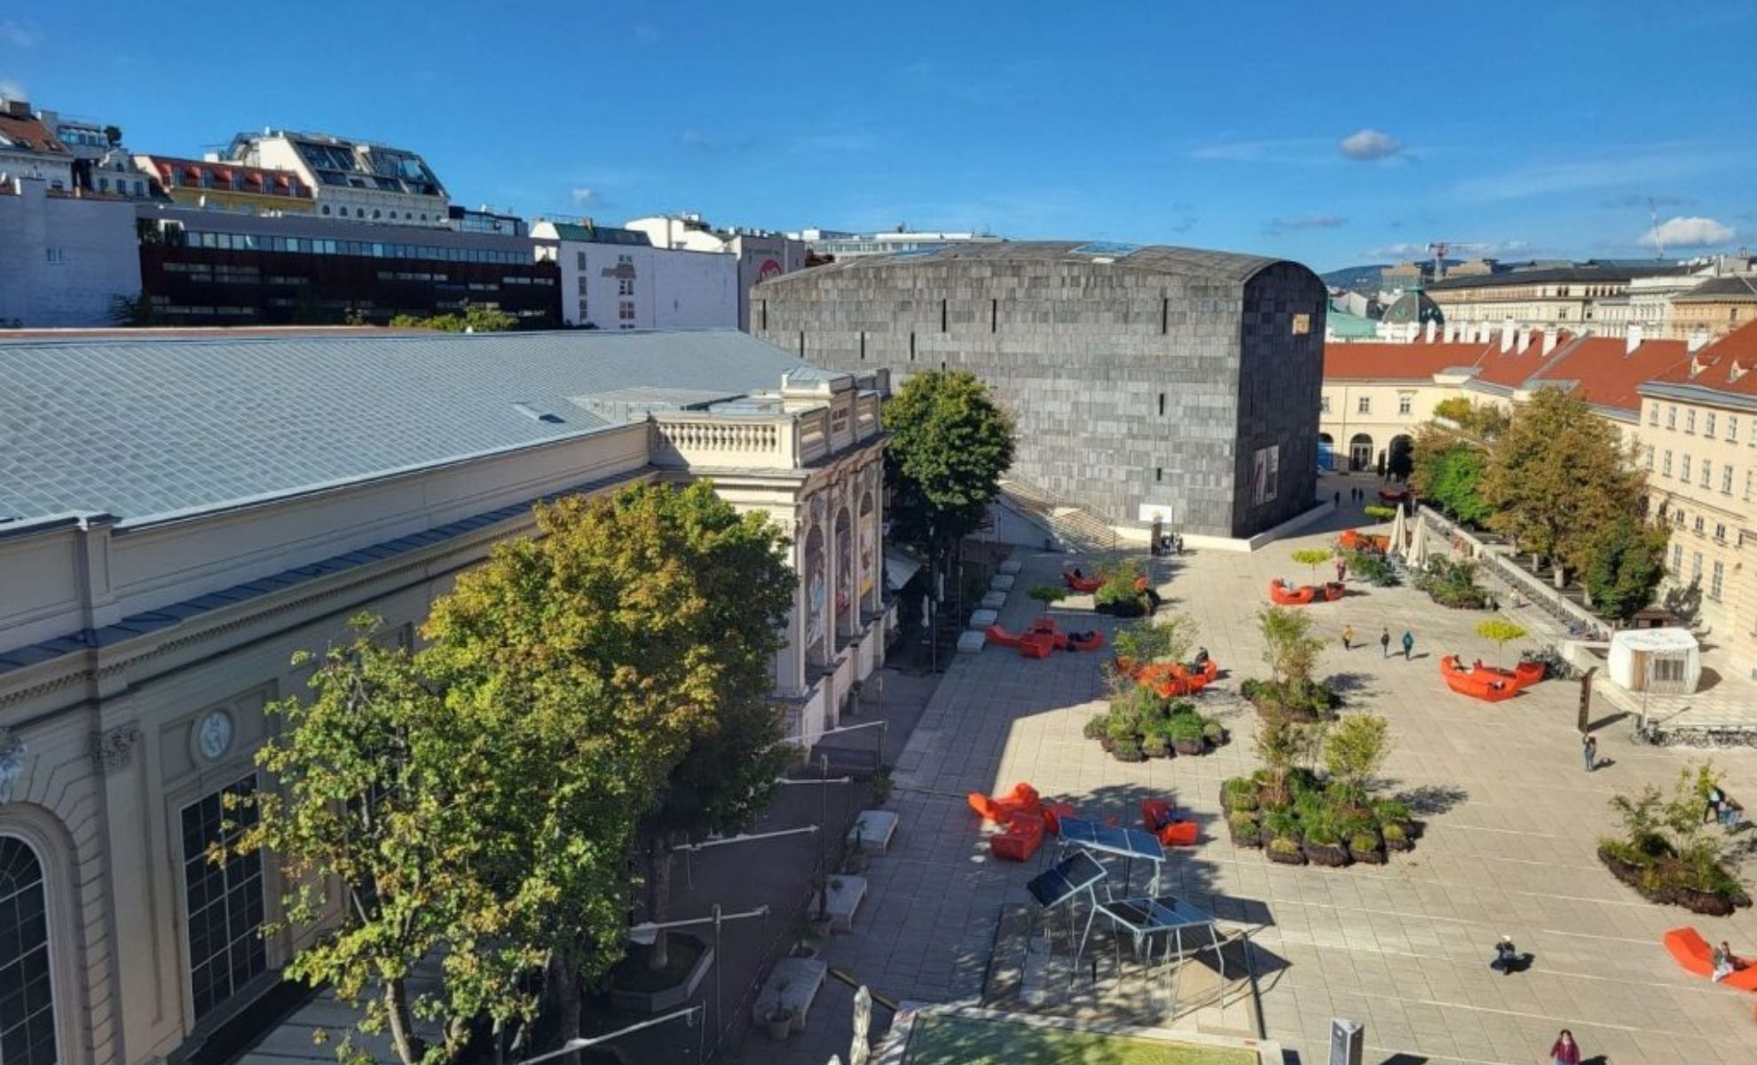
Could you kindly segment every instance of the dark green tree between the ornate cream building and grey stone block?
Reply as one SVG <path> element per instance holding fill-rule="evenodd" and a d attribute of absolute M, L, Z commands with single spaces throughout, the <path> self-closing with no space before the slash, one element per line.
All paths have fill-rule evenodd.
<path fill-rule="evenodd" d="M 893 532 L 940 559 L 982 522 L 1012 466 L 1014 422 L 975 374 L 926 371 L 884 404 Z"/>

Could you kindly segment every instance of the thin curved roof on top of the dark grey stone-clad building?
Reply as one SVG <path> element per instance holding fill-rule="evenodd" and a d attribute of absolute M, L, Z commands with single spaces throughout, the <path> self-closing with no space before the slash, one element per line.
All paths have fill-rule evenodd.
<path fill-rule="evenodd" d="M 1174 248 L 1170 244 L 1116 244 L 1093 241 L 1003 241 L 994 244 L 945 244 L 942 248 L 915 248 L 891 255 L 861 255 L 838 260 L 810 271 L 794 271 L 770 278 L 764 285 L 787 285 L 821 276 L 822 271 L 882 271 L 887 267 L 921 267 L 952 260 L 984 262 L 1079 262 L 1103 267 L 1153 271 L 1163 274 L 1198 274 L 1228 281 L 1247 281 L 1276 258 L 1239 255 L 1233 251 L 1205 251 L 1202 248 Z"/>

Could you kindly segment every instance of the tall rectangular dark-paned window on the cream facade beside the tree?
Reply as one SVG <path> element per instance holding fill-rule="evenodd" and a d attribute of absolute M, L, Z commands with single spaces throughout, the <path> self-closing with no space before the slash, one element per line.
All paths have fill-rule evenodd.
<path fill-rule="evenodd" d="M 209 844 L 230 844 L 257 822 L 255 807 L 223 810 L 225 794 L 257 791 L 257 777 L 183 807 L 183 914 L 190 935 L 190 993 L 202 1018 L 269 968 L 262 928 L 262 854 L 207 861 Z M 235 821 L 230 831 L 223 821 Z"/>

